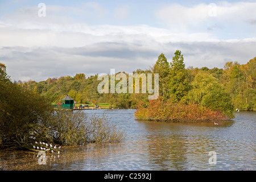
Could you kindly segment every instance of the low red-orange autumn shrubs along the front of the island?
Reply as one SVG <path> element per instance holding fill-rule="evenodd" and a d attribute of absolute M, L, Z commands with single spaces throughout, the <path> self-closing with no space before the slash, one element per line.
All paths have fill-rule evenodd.
<path fill-rule="evenodd" d="M 228 119 L 221 111 L 213 111 L 197 104 L 163 102 L 162 98 L 151 100 L 147 107 L 140 105 L 135 117 L 151 121 L 210 122 Z"/>

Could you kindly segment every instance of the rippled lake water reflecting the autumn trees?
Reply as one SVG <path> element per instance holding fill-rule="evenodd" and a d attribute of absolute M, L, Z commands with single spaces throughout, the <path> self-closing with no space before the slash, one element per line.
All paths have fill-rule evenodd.
<path fill-rule="evenodd" d="M 84 110 L 106 113 L 125 130 L 121 143 L 88 144 L 47 154 L 0 151 L 2 170 L 255 170 L 256 112 L 236 113 L 232 121 L 164 123 L 138 121 L 135 110 Z M 216 152 L 210 156 L 209 152 Z M 216 158 L 214 158 L 216 157 Z M 216 160 L 210 160 L 214 158 Z"/>

